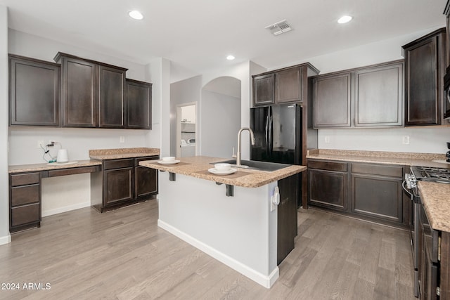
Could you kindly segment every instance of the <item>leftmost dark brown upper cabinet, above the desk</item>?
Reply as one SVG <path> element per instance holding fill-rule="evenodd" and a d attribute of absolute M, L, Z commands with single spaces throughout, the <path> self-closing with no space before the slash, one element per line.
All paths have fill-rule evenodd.
<path fill-rule="evenodd" d="M 9 55 L 9 124 L 59 126 L 60 65 Z"/>

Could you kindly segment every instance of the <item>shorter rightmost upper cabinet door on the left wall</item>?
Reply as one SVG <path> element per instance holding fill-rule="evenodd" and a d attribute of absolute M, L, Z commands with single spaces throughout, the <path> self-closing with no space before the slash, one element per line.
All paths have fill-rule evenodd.
<path fill-rule="evenodd" d="M 127 128 L 151 129 L 152 84 L 127 79 Z"/>

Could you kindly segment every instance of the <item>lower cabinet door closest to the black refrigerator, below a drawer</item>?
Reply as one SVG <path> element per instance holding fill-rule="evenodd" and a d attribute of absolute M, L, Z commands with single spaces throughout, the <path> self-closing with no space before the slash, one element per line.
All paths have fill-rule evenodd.
<path fill-rule="evenodd" d="M 309 203 L 347 211 L 347 173 L 309 169 Z"/>

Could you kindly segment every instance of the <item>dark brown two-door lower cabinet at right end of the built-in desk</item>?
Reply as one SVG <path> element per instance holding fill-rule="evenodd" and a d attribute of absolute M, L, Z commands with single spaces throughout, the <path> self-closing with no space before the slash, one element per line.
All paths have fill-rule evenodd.
<path fill-rule="evenodd" d="M 158 156 L 103 160 L 103 171 L 91 174 L 91 204 L 103 212 L 147 200 L 158 193 L 158 170 L 139 166 Z"/>

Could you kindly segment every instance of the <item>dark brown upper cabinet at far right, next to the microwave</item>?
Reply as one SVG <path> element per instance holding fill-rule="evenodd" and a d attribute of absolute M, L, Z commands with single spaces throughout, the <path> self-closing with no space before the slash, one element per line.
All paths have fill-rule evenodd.
<path fill-rule="evenodd" d="M 403 46 L 405 58 L 405 125 L 442 124 L 446 31 L 435 30 Z"/>

